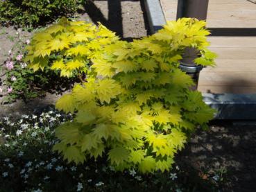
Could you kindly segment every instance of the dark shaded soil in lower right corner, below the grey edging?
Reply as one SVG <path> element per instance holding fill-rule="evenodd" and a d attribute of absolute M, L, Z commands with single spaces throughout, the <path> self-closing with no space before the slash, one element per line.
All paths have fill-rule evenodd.
<path fill-rule="evenodd" d="M 178 159 L 198 170 L 223 169 L 223 191 L 256 189 L 256 121 L 214 121 L 197 132 Z"/>

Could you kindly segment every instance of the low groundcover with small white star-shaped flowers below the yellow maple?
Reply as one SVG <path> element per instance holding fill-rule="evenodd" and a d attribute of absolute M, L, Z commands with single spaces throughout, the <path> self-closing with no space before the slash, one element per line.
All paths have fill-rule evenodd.
<path fill-rule="evenodd" d="M 178 164 L 170 173 L 116 172 L 106 159 L 68 163 L 53 152 L 58 125 L 72 121 L 47 107 L 30 115 L 0 119 L 0 191 L 218 191 L 222 173 Z M 200 173 L 200 174 L 198 174 Z M 207 175 L 207 177 L 205 177 Z"/>

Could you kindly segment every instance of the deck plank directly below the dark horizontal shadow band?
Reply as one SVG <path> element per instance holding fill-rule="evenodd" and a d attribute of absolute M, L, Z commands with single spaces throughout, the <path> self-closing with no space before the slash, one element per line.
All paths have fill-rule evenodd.
<path fill-rule="evenodd" d="M 256 47 L 256 37 L 207 37 L 207 40 L 210 47 Z"/>

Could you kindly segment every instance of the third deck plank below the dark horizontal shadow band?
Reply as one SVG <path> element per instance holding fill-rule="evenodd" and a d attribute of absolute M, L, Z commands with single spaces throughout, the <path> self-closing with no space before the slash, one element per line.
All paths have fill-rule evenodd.
<path fill-rule="evenodd" d="M 203 72 L 255 72 L 256 76 L 256 60 L 215 60 L 216 67 L 205 67 Z"/>

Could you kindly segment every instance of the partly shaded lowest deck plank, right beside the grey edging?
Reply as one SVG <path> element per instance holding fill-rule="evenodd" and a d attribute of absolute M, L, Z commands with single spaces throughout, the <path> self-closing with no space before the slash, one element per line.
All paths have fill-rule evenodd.
<path fill-rule="evenodd" d="M 244 87 L 244 86 L 204 86 L 198 85 L 198 91 L 203 93 L 212 94 L 255 94 L 255 87 Z"/>

